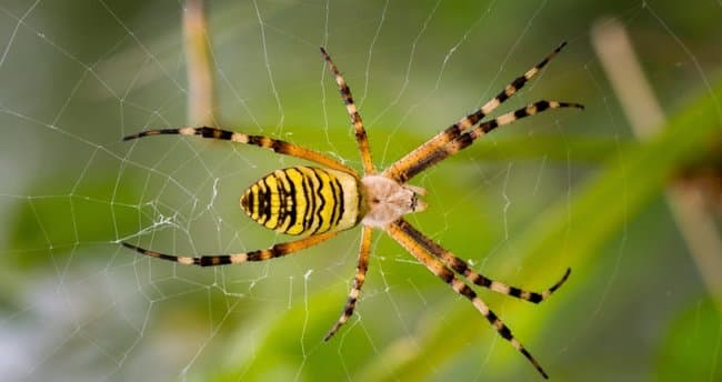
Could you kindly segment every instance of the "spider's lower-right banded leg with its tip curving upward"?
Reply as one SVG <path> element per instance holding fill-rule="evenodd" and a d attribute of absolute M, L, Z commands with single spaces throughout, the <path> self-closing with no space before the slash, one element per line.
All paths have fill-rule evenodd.
<path fill-rule="evenodd" d="M 403 223 L 405 223 L 405 221 Z M 435 258 L 441 260 L 447 267 L 451 268 L 454 272 L 467 278 L 467 280 L 469 280 L 470 282 L 479 286 L 490 289 L 497 293 L 511 295 L 520 300 L 525 300 L 533 303 L 539 303 L 546 300 L 555 290 L 559 289 L 559 286 L 561 286 L 566 281 L 569 274 L 571 273 L 571 269 L 568 268 L 566 272 L 564 272 L 564 275 L 562 275 L 562 278 L 559 281 L 556 281 L 556 283 L 554 283 L 551 288 L 542 292 L 532 292 L 532 291 L 522 290 L 517 286 L 511 286 L 502 282 L 491 280 L 483 274 L 474 272 L 471 268 L 469 268 L 469 264 L 465 261 L 457 258 L 453 253 L 449 252 L 441 245 L 437 244 L 434 241 L 432 241 L 427 235 L 424 235 L 419 230 L 417 230 L 415 228 L 413 228 L 408 223 L 405 223 L 404 225 L 404 231 L 417 242 L 422 243 L 429 253 L 433 254 Z"/>

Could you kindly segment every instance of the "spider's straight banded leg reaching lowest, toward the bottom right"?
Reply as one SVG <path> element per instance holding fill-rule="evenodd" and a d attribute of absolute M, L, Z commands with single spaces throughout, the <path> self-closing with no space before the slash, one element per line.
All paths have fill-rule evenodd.
<path fill-rule="evenodd" d="M 433 252 L 433 248 L 428 245 L 428 242 L 423 238 L 417 235 L 418 231 L 413 229 L 407 221 L 399 219 L 395 222 L 387 227 L 387 232 L 391 238 L 393 238 L 401 247 L 407 249 L 411 254 L 413 254 L 417 260 L 429 269 L 433 274 L 439 279 L 443 280 L 454 292 L 467 298 L 471 303 L 477 308 L 477 310 L 483 315 L 489 323 L 497 330 L 499 335 L 504 340 L 509 341 L 514 349 L 522 353 L 529 362 L 542 374 L 544 379 L 548 379 L 549 375 L 541 368 L 539 362 L 529 353 L 529 351 L 517 340 L 509 326 L 507 326 L 500 319 L 492 312 L 489 306 L 477 295 L 477 293 L 469 286 L 467 283 L 461 281 L 452 270 L 444 265 L 440 260 L 435 259 L 430 253 Z"/>

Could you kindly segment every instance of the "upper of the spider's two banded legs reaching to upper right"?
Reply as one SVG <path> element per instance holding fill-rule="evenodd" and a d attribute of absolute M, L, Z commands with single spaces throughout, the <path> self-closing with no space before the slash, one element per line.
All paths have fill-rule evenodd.
<path fill-rule="evenodd" d="M 541 60 L 537 66 L 529 69 L 523 76 L 514 79 L 510 84 L 508 84 L 504 90 L 502 90 L 497 97 L 487 102 L 481 109 L 475 112 L 462 118 L 457 123 L 450 125 L 444 131 L 438 133 L 425 143 L 417 148 L 415 150 L 408 153 L 405 157 L 401 158 L 399 161 L 393 163 L 387 170 L 383 171 L 383 174 L 397 180 L 398 182 L 405 183 L 413 175 L 418 174 L 419 171 L 413 171 L 414 167 L 419 162 L 423 162 L 425 158 L 432 157 L 433 153 L 445 145 L 447 143 L 453 141 L 464 131 L 471 129 L 474 124 L 479 123 L 485 115 L 491 113 L 497 109 L 501 103 L 511 98 L 517 91 L 529 82 L 542 68 L 549 63 L 549 61 L 559 53 L 562 48 L 566 46 L 566 42 L 562 42 L 556 49 L 554 49 L 549 56 Z"/>

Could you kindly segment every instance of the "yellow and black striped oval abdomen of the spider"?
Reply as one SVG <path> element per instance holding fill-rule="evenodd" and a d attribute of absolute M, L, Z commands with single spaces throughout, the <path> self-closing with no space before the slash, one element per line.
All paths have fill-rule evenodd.
<path fill-rule="evenodd" d="M 360 220 L 359 204 L 355 177 L 305 165 L 275 170 L 241 197 L 255 222 L 294 235 L 348 230 Z"/>

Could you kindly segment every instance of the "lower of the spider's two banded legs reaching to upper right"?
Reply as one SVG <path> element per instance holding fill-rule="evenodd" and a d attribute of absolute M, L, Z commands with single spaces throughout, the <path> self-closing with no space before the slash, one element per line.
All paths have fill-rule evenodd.
<path fill-rule="evenodd" d="M 551 109 L 561 109 L 561 108 L 575 108 L 584 109 L 582 104 L 573 102 L 560 102 L 560 101 L 537 101 L 530 105 L 518 109 L 515 111 L 508 112 L 505 114 L 499 115 L 492 120 L 482 122 L 478 127 L 473 128 L 470 131 L 467 131 L 463 134 L 454 138 L 451 142 L 445 145 L 438 148 L 437 151 L 428 152 L 424 157 L 418 158 L 418 162 L 410 163 L 403 173 L 398 175 L 401 179 L 408 180 L 417 175 L 418 173 L 429 169 L 430 167 L 443 161 L 444 159 L 455 154 L 469 147 L 474 140 L 479 137 L 484 135 L 485 133 L 502 127 L 504 124 L 510 124 L 522 118 L 531 117 L 546 110 Z"/>

